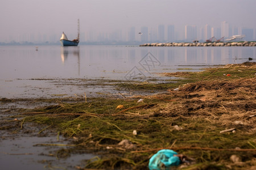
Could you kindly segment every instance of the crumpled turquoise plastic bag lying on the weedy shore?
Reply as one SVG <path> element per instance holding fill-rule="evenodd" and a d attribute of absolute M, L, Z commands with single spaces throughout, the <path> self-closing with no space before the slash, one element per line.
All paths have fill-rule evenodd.
<path fill-rule="evenodd" d="M 173 150 L 160 150 L 150 158 L 148 168 L 150 170 L 166 170 L 180 164 L 180 158 Z"/>

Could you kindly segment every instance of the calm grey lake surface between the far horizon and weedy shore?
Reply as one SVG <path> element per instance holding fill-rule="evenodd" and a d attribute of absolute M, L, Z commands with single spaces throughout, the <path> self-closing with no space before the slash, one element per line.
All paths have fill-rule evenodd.
<path fill-rule="evenodd" d="M 86 90 L 60 88 L 56 79 L 161 79 L 155 73 L 242 63 L 255 54 L 255 46 L 0 46 L 0 96 L 73 95 Z"/>

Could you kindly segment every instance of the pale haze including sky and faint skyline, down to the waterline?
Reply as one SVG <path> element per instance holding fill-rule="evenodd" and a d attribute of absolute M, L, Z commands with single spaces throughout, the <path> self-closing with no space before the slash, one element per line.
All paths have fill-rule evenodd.
<path fill-rule="evenodd" d="M 223 22 L 229 30 L 225 37 L 245 33 L 245 39 L 255 40 L 255 8 L 255 0 L 9 0 L 0 6 L 0 42 L 57 42 L 63 31 L 74 39 L 77 19 L 82 42 L 220 39 Z M 190 27 L 196 31 L 188 37 Z"/>

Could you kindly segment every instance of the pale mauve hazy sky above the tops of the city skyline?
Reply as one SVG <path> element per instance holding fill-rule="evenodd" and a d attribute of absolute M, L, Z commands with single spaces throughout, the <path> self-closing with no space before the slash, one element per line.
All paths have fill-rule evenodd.
<path fill-rule="evenodd" d="M 174 24 L 220 27 L 226 21 L 237 27 L 256 28 L 256 0 L 0 0 L 0 41 L 6 36 L 112 32 L 135 26 L 157 28 Z"/>

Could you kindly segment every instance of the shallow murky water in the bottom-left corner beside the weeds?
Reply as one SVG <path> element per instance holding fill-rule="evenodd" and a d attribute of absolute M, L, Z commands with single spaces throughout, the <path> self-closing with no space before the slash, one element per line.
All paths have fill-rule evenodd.
<path fill-rule="evenodd" d="M 3 138 L 3 136 L 2 136 Z M 57 159 L 49 152 L 67 146 L 35 146 L 37 144 L 67 144 L 58 142 L 56 137 L 8 137 L 0 142 L 1 169 L 76 169 L 84 165 L 83 160 L 93 158 L 92 154 L 71 155 L 67 159 Z"/>

